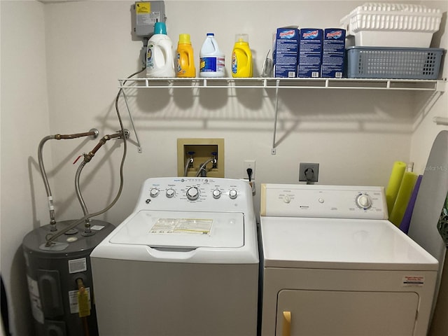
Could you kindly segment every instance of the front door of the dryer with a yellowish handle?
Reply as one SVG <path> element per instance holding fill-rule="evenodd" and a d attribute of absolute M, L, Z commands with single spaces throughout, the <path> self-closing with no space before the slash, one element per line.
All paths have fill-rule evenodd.
<path fill-rule="evenodd" d="M 414 335 L 418 305 L 412 292 L 281 290 L 275 335 Z"/>

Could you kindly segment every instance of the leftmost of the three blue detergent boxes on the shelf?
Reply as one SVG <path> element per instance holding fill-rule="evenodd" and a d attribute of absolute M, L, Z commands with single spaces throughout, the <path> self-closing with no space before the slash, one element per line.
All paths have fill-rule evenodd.
<path fill-rule="evenodd" d="M 274 77 L 297 77 L 299 30 L 295 27 L 277 28 L 274 48 Z"/>

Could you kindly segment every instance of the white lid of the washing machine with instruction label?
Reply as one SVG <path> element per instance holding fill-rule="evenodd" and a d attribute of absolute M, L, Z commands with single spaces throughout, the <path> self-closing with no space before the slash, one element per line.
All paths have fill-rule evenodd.
<path fill-rule="evenodd" d="M 244 246 L 244 214 L 138 211 L 127 218 L 111 244 L 166 248 L 237 248 Z"/>

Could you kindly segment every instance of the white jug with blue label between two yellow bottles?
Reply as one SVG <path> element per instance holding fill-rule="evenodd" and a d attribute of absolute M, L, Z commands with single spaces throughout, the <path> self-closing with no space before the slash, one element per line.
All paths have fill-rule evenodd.
<path fill-rule="evenodd" d="M 214 33 L 207 33 L 200 52 L 200 77 L 225 77 L 225 55 L 219 50 Z"/>

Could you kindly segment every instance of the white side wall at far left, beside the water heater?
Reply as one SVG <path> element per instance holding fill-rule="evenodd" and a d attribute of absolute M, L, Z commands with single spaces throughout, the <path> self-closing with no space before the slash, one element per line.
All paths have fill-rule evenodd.
<path fill-rule="evenodd" d="M 47 221 L 36 158 L 38 142 L 49 132 L 44 6 L 0 1 L 0 8 L 1 276 L 13 335 L 32 335 L 21 244 Z"/>

